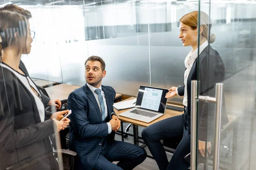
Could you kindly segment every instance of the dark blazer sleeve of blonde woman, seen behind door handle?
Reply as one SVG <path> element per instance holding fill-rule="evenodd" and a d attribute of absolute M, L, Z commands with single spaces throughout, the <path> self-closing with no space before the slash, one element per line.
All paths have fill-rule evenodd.
<path fill-rule="evenodd" d="M 205 57 L 200 62 L 199 67 L 199 79 L 201 82 L 201 92 L 199 94 L 215 97 L 215 85 L 223 81 L 225 74 L 224 64 L 220 56 L 212 55 Z M 213 136 L 211 133 L 213 133 L 212 130 L 215 127 L 215 103 L 200 102 L 203 102 L 203 105 L 201 111 L 199 111 L 199 140 L 212 141 Z"/>

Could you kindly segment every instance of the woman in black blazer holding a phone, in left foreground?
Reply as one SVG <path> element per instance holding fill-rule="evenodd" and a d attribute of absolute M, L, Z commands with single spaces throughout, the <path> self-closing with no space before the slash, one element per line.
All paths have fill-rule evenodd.
<path fill-rule="evenodd" d="M 57 170 L 49 135 L 64 130 L 68 111 L 45 112 L 42 95 L 19 68 L 32 37 L 23 15 L 0 11 L 0 169 Z"/>

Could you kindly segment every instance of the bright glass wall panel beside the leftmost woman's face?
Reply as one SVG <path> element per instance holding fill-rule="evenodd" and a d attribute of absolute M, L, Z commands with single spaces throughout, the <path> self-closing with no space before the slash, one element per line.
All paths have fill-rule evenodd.
<path fill-rule="evenodd" d="M 23 55 L 21 60 L 26 65 L 30 77 L 62 83 L 60 55 L 56 49 L 58 43 L 64 43 L 58 34 L 63 28 L 56 26 L 55 7 L 52 5 L 53 3 L 47 4 L 40 0 L 37 4 L 19 5 L 31 12 L 32 18 L 29 22 L 31 30 L 35 31 L 31 53 Z M 58 11 L 58 8 L 56 10 Z"/>

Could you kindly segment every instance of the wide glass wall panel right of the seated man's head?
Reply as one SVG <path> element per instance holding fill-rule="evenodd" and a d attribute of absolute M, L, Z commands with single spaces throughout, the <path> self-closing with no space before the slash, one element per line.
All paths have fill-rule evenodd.
<path fill-rule="evenodd" d="M 84 7 L 91 39 L 87 41 L 88 56 L 105 60 L 107 75 L 103 84 L 118 93 L 137 96 L 140 85 L 149 85 L 147 4 L 103 0 L 95 3 Z"/>

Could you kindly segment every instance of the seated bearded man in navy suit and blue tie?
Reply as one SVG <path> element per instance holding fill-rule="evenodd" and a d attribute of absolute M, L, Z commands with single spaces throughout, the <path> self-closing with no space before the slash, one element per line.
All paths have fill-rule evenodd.
<path fill-rule="evenodd" d="M 116 92 L 103 86 L 105 62 L 97 56 L 85 62 L 86 84 L 67 100 L 70 115 L 70 150 L 77 153 L 76 170 L 132 170 L 146 159 L 143 148 L 115 141 L 120 121 L 114 113 Z M 117 164 L 112 161 L 119 161 Z"/>

